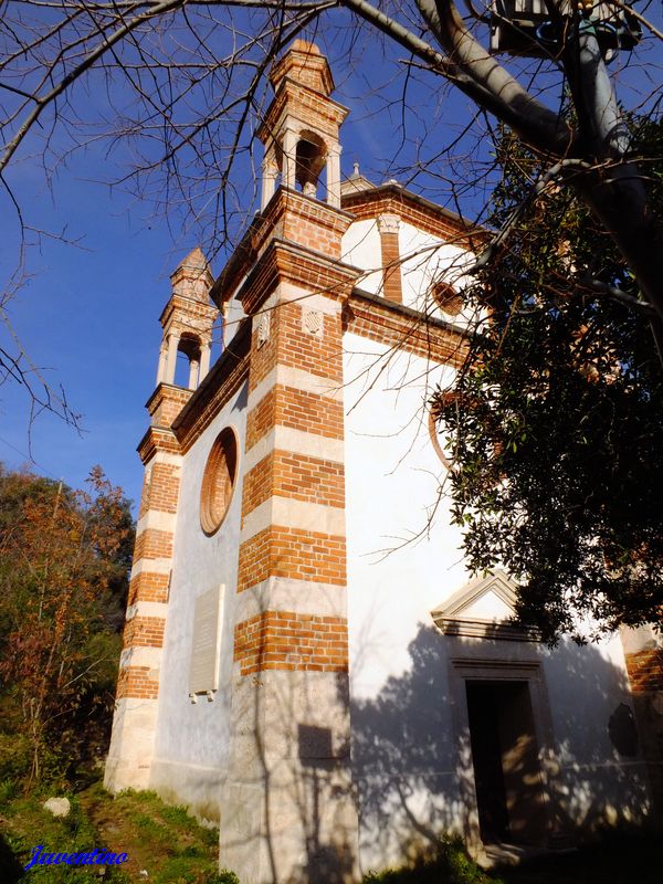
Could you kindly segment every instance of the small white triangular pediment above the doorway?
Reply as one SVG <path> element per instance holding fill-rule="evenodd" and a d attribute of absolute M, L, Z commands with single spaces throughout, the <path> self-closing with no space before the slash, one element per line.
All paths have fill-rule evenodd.
<path fill-rule="evenodd" d="M 506 641 L 540 641 L 538 630 L 516 627 L 516 587 L 504 571 L 492 571 L 456 590 L 431 611 L 438 629 L 445 635 Z"/>

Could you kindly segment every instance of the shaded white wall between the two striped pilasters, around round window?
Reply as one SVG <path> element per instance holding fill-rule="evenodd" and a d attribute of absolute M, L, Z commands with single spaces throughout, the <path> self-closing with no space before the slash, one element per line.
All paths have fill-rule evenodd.
<path fill-rule="evenodd" d="M 218 818 L 228 761 L 245 423 L 244 383 L 183 459 L 150 781 L 151 788 L 165 797 L 188 803 L 198 815 L 212 820 Z M 238 434 L 235 490 L 223 524 L 208 537 L 200 526 L 200 486 L 211 446 L 228 425 Z M 219 690 L 212 702 L 199 696 L 193 704 L 189 698 L 189 660 L 194 599 L 220 583 L 225 585 L 225 592 Z"/>

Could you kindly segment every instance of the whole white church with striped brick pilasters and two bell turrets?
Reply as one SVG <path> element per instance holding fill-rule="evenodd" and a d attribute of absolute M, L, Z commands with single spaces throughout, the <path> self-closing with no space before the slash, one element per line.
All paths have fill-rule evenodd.
<path fill-rule="evenodd" d="M 271 80 L 261 212 L 217 278 L 183 260 L 161 315 L 107 787 L 219 824 L 242 884 L 356 882 L 444 833 L 485 859 L 653 824 L 653 636 L 514 629 L 439 494 L 428 401 L 482 232 L 341 182 L 316 46 Z"/>

